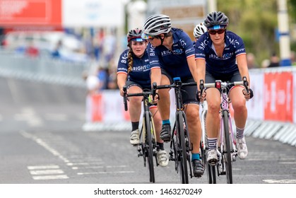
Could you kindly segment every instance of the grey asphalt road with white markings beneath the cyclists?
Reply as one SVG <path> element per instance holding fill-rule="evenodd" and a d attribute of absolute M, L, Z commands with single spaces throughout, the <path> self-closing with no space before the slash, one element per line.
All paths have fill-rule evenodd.
<path fill-rule="evenodd" d="M 83 132 L 83 88 L 0 77 L 0 91 L 1 184 L 149 183 L 130 132 Z M 296 183 L 295 146 L 249 136 L 247 145 L 249 156 L 233 163 L 234 183 Z M 173 162 L 155 167 L 155 182 L 179 183 Z M 204 184 L 206 174 L 189 182 Z"/>

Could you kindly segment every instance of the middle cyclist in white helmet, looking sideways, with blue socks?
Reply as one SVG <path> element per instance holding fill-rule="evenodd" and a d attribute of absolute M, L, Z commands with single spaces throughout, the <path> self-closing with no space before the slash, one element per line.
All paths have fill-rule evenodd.
<path fill-rule="evenodd" d="M 142 38 L 148 40 L 148 56 L 151 66 L 151 82 L 158 85 L 170 85 L 172 78 L 180 77 L 184 83 L 197 80 L 192 41 L 183 30 L 172 28 L 170 17 L 155 14 L 146 19 L 143 25 Z M 170 93 L 168 89 L 158 90 L 160 100 L 158 109 L 162 117 L 160 137 L 164 141 L 171 139 L 170 125 Z M 199 103 L 196 100 L 196 87 L 182 88 L 184 112 L 187 115 L 189 135 L 193 145 L 192 166 L 195 177 L 201 177 L 204 172 L 199 155 L 201 139 L 201 122 L 199 120 Z"/>

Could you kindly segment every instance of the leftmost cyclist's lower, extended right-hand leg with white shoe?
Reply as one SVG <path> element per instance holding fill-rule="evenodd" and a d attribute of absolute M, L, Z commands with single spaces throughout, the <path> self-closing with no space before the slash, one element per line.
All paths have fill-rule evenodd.
<path fill-rule="evenodd" d="M 150 112 L 153 117 L 153 122 L 155 126 L 155 135 L 156 135 L 156 144 L 159 146 L 160 150 L 157 153 L 158 164 L 162 167 L 165 167 L 169 163 L 169 158 L 167 157 L 167 152 L 165 151 L 163 140 L 160 138 L 160 130 L 162 127 L 162 120 L 160 117 L 160 112 L 158 111 L 157 105 L 150 107 Z"/>

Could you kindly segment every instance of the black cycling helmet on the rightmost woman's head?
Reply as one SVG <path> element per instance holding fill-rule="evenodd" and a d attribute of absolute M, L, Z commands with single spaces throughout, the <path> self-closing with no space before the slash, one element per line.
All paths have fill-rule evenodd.
<path fill-rule="evenodd" d="M 226 28 L 228 25 L 228 17 L 223 12 L 214 11 L 212 13 L 208 13 L 208 16 L 206 16 L 203 24 L 206 28 L 213 28 L 215 25 L 220 25 L 219 28 Z"/>

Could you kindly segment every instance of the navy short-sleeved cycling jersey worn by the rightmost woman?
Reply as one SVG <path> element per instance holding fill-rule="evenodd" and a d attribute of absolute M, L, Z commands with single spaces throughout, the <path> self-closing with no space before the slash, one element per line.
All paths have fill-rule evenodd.
<path fill-rule="evenodd" d="M 208 33 L 199 37 L 195 44 L 195 59 L 206 60 L 206 71 L 213 76 L 231 76 L 236 71 L 236 57 L 239 54 L 246 54 L 242 38 L 230 31 L 225 32 L 225 47 L 222 57 L 215 53 L 215 47 Z"/>

